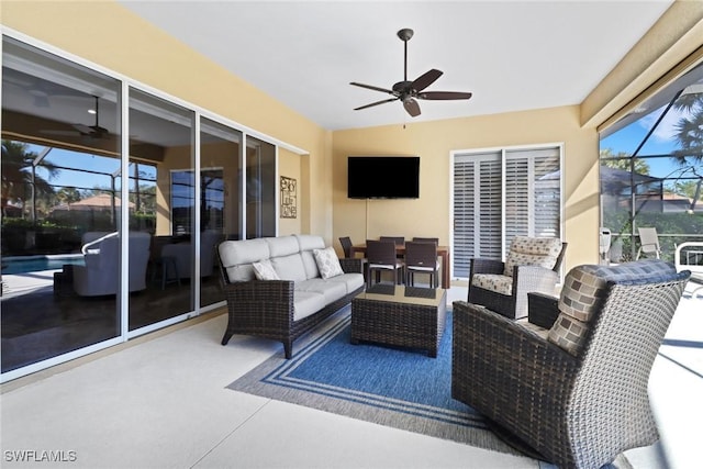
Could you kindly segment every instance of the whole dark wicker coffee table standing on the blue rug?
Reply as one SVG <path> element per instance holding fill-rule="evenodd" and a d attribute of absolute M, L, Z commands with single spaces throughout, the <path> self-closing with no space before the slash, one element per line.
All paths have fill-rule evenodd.
<path fill-rule="evenodd" d="M 412 347 L 437 356 L 447 319 L 447 291 L 376 284 L 352 300 L 352 344 Z"/>

